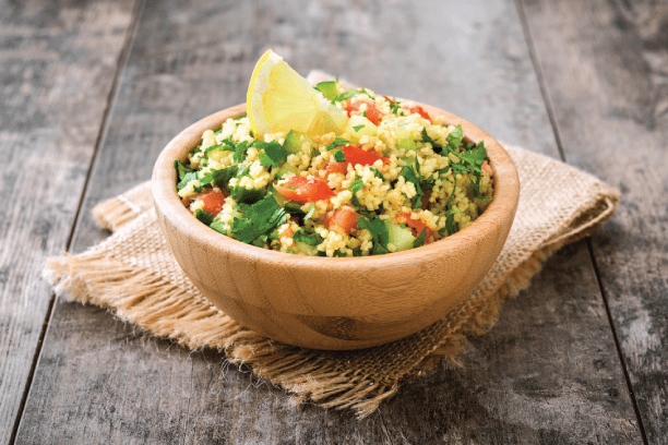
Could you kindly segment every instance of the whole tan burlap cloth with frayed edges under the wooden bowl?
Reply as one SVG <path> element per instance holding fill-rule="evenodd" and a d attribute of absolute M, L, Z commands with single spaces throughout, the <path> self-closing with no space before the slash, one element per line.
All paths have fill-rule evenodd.
<path fill-rule="evenodd" d="M 157 337 L 191 349 L 216 348 L 232 363 L 290 392 L 296 401 L 349 407 L 363 418 L 398 388 L 448 358 L 468 334 L 482 334 L 504 301 L 528 286 L 549 254 L 589 234 L 617 206 L 616 190 L 565 164 L 506 148 L 522 192 L 508 241 L 491 270 L 456 310 L 402 340 L 358 351 L 278 344 L 215 309 L 182 273 L 160 232 L 150 183 L 99 204 L 94 215 L 115 231 L 79 255 L 51 258 L 45 276 L 58 294 L 110 309 Z"/>

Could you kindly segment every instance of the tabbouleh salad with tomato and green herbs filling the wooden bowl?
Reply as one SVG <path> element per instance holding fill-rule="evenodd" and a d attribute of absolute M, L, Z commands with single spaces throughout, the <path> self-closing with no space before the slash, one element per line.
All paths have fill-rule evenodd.
<path fill-rule="evenodd" d="M 206 226 L 259 248 L 366 256 L 418 248 L 470 225 L 492 197 L 482 142 L 419 105 L 315 86 L 349 120 L 342 134 L 253 134 L 246 115 L 205 131 L 177 191 Z"/>

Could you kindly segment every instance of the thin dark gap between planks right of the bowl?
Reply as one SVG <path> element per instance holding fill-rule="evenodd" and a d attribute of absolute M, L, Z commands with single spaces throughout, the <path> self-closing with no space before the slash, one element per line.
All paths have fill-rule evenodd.
<path fill-rule="evenodd" d="M 549 95 L 549 92 L 548 92 L 548 88 L 545 82 L 545 77 L 542 75 L 540 62 L 538 61 L 536 48 L 534 46 L 534 39 L 532 36 L 532 31 L 529 28 L 528 19 L 526 16 L 526 11 L 524 10 L 524 0 L 516 0 L 515 4 L 517 5 L 517 14 L 520 15 L 520 22 L 522 23 L 522 31 L 524 32 L 524 38 L 526 39 L 526 46 L 528 48 L 529 57 L 532 58 L 532 63 L 534 64 L 534 72 L 536 73 L 538 85 L 540 86 L 540 93 L 542 95 L 542 100 L 545 101 L 545 108 L 548 113 L 550 124 L 552 125 L 552 132 L 554 133 L 554 141 L 557 143 L 557 148 L 559 149 L 559 155 L 561 156 L 561 160 L 568 164 L 565 152 L 563 149 L 563 144 L 561 142 L 561 135 L 559 134 L 559 125 L 557 124 L 557 117 L 554 113 L 554 108 L 552 106 L 552 100 L 550 98 L 550 95 Z M 629 395 L 631 396 L 631 401 L 633 404 L 633 412 L 635 412 L 635 418 L 637 419 L 637 424 L 640 426 L 643 443 L 645 445 L 648 445 L 647 434 L 645 433 L 645 425 L 643 424 L 643 419 L 640 413 L 637 400 L 635 399 L 635 393 L 633 392 L 633 385 L 631 384 L 631 378 L 629 376 L 629 370 L 627 369 L 627 363 L 624 362 L 624 358 L 623 358 L 622 350 L 621 350 L 621 345 L 617 336 L 617 330 L 615 329 L 612 314 L 610 312 L 610 306 L 608 305 L 608 298 L 607 298 L 606 290 L 604 288 L 603 280 L 600 278 L 600 273 L 598 272 L 598 265 L 596 263 L 596 256 L 594 255 L 594 249 L 592 246 L 591 237 L 586 239 L 586 244 L 587 244 L 587 251 L 589 253 L 589 261 L 592 262 L 592 266 L 594 267 L 594 275 L 596 276 L 596 282 L 598 285 L 600 298 L 603 299 L 604 306 L 606 308 L 606 315 L 608 316 L 608 325 L 610 326 L 610 330 L 612 332 L 612 338 L 615 339 L 615 347 L 617 348 L 617 354 L 619 357 L 619 361 L 621 363 L 621 368 L 624 373 L 627 388 L 629 389 Z"/>

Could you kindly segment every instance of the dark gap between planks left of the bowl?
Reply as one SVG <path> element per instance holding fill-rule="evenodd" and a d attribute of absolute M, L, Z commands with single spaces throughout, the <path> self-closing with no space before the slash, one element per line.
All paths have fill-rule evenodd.
<path fill-rule="evenodd" d="M 79 227 L 79 224 L 80 224 L 81 212 L 83 208 L 86 192 L 88 190 L 88 182 L 91 180 L 93 166 L 95 165 L 95 160 L 97 159 L 97 154 L 99 153 L 99 147 L 102 146 L 102 143 L 108 130 L 107 122 L 108 122 L 109 116 L 111 115 L 111 110 L 114 109 L 114 104 L 116 103 L 116 97 L 118 94 L 118 84 L 119 84 L 122 72 L 126 70 L 126 65 L 128 64 L 128 58 L 130 56 L 130 51 L 132 50 L 132 46 L 134 44 L 134 38 L 136 36 L 136 31 L 139 28 L 142 13 L 144 11 L 145 2 L 146 0 L 136 0 L 134 4 L 133 13 L 132 13 L 132 23 L 130 24 L 130 26 L 128 27 L 128 31 L 126 32 L 127 34 L 126 41 L 123 43 L 123 47 L 118 57 L 116 73 L 114 74 L 114 81 L 111 82 L 111 88 L 109 89 L 109 95 L 107 97 L 107 105 L 105 107 L 103 119 L 99 125 L 99 132 L 97 134 L 97 139 L 95 140 L 95 147 L 93 148 L 93 156 L 91 156 L 91 163 L 88 164 L 88 171 L 86 172 L 86 179 L 81 190 L 81 195 L 79 196 L 79 205 L 76 206 L 76 212 L 74 213 L 74 218 L 72 219 L 72 227 L 70 229 L 70 233 L 65 242 L 65 248 L 64 248 L 65 252 L 70 251 L 72 240 L 74 239 L 74 233 L 76 232 L 76 228 Z M 39 339 L 37 340 L 37 345 L 35 347 L 35 353 L 33 354 L 33 361 L 31 363 L 31 371 L 25 382 L 25 387 L 23 389 L 23 395 L 21 396 L 21 402 L 19 404 L 19 410 L 16 412 L 16 419 L 14 419 L 14 425 L 12 426 L 12 434 L 10 435 L 10 440 L 9 440 L 10 445 L 14 445 L 16 441 L 16 434 L 19 433 L 19 426 L 21 425 L 21 419 L 23 419 L 23 411 L 25 409 L 27 396 L 31 392 L 31 386 L 33 385 L 33 377 L 35 376 L 35 370 L 37 369 L 37 361 L 39 360 L 39 356 L 41 353 L 41 347 L 44 345 L 44 339 L 46 337 L 46 333 L 49 327 L 49 322 L 51 320 L 51 314 L 53 312 L 55 304 L 56 304 L 56 294 L 51 292 L 51 296 L 49 297 L 49 305 L 47 308 L 47 312 L 44 317 L 44 323 L 41 324 L 41 330 L 39 332 Z"/>

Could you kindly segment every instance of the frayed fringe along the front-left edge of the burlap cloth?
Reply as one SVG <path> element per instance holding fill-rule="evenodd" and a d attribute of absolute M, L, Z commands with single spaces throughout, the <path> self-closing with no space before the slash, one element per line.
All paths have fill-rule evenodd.
<path fill-rule="evenodd" d="M 248 364 L 259 377 L 294 393 L 296 404 L 354 408 L 361 419 L 398 388 L 398 380 L 383 384 L 355 370 L 342 373 L 331 358 L 334 352 L 277 344 L 212 305 L 195 308 L 187 290 L 103 252 L 51 258 L 44 275 L 58 296 L 106 308 L 122 321 L 190 349 L 224 351 L 231 363 Z"/>

